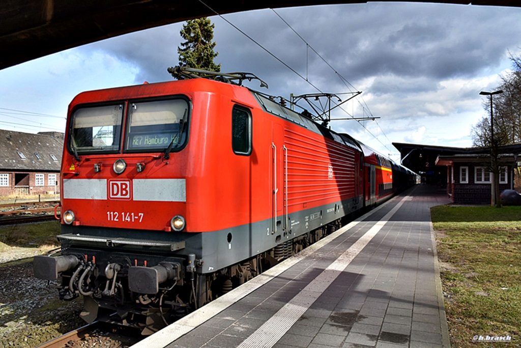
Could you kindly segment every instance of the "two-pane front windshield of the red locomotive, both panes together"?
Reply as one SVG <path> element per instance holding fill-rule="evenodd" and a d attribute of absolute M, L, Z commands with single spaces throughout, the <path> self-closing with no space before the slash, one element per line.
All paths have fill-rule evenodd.
<path fill-rule="evenodd" d="M 185 98 L 173 98 L 76 109 L 71 122 L 71 152 L 120 153 L 125 108 L 123 152 L 170 152 L 184 147 L 189 103 Z"/>

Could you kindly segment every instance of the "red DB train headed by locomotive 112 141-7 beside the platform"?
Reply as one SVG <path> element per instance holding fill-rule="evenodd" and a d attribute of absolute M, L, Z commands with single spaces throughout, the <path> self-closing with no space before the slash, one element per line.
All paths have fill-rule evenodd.
<path fill-rule="evenodd" d="M 218 79 L 84 92 L 69 105 L 61 253 L 36 257 L 34 274 L 62 299 L 83 295 L 86 321 L 151 333 L 398 188 L 367 146 Z"/>

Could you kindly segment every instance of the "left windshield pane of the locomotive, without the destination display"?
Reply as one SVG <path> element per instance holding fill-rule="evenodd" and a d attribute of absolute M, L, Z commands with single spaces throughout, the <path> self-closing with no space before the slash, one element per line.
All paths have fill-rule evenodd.
<path fill-rule="evenodd" d="M 77 153 L 119 150 L 123 105 L 82 107 L 72 115 L 71 150 Z"/>

